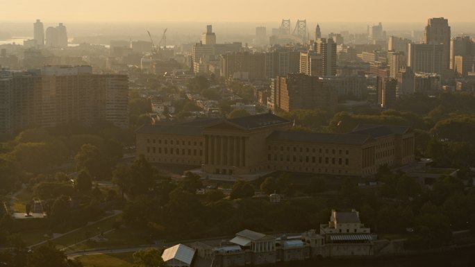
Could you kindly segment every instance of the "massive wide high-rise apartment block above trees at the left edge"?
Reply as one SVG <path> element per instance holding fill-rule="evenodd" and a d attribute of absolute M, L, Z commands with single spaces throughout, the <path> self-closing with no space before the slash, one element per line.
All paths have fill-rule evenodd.
<path fill-rule="evenodd" d="M 128 78 L 93 74 L 88 66 L 1 71 L 0 132 L 54 127 L 69 121 L 92 126 L 102 121 L 128 127 Z"/>

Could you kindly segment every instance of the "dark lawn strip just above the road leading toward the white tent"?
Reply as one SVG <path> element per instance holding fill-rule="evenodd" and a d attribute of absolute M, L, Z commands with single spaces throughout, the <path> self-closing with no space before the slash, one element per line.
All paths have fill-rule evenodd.
<path fill-rule="evenodd" d="M 140 246 L 149 243 L 144 237 L 144 232 L 133 228 L 114 230 L 104 234 L 107 241 L 84 243 L 72 246 L 69 250 L 86 250 L 88 248 L 126 248 L 130 246 Z"/>

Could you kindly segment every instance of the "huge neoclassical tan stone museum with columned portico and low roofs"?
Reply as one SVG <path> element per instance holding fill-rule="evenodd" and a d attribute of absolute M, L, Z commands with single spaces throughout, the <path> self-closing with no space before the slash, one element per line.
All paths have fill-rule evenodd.
<path fill-rule="evenodd" d="M 399 126 L 358 126 L 348 134 L 290 131 L 272 114 L 142 126 L 137 154 L 152 163 L 201 166 L 206 173 L 247 175 L 294 171 L 374 175 L 383 164 L 414 161 L 414 134 Z"/>

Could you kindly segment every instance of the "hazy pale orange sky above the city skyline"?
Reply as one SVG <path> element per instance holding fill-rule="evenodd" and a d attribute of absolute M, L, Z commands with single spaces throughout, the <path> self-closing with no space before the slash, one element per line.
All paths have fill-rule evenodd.
<path fill-rule="evenodd" d="M 475 0 L 1 0 L 1 21 L 474 22 Z"/>

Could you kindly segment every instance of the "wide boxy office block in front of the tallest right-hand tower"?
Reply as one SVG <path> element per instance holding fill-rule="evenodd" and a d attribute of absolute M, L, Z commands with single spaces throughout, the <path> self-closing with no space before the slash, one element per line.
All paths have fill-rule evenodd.
<path fill-rule="evenodd" d="M 408 67 L 414 72 L 429 74 L 444 73 L 443 44 L 409 44 Z"/>

